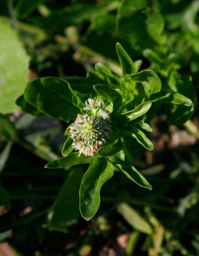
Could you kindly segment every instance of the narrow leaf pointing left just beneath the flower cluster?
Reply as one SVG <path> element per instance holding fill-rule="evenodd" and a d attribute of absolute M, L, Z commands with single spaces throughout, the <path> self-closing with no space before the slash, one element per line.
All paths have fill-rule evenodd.
<path fill-rule="evenodd" d="M 93 159 L 92 156 L 78 156 L 78 153 L 72 153 L 69 156 L 51 161 L 45 168 L 66 168 L 77 164 L 88 164 L 92 163 Z"/>

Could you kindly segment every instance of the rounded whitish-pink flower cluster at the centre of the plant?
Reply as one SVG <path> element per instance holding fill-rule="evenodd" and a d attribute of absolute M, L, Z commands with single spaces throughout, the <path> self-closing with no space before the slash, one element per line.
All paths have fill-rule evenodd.
<path fill-rule="evenodd" d="M 90 111 L 91 115 L 77 115 L 70 126 L 70 136 L 79 156 L 93 156 L 112 133 L 111 120 L 100 100 L 88 99 L 84 109 Z"/>

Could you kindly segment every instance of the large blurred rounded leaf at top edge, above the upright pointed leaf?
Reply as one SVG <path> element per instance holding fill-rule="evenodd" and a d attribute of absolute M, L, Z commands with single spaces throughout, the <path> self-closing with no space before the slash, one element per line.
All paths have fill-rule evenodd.
<path fill-rule="evenodd" d="M 165 40 L 161 33 L 164 20 L 158 10 L 149 8 L 145 0 L 123 0 L 117 12 L 117 31 L 142 51 L 154 49 Z"/>

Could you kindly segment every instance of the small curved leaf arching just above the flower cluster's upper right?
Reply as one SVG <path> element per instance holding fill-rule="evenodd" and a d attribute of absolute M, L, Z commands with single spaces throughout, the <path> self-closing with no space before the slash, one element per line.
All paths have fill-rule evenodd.
<path fill-rule="evenodd" d="M 122 104 L 121 95 L 114 89 L 110 88 L 110 86 L 103 85 L 103 84 L 96 84 L 94 85 L 94 90 L 98 92 L 104 99 L 108 99 L 110 102 L 113 102 L 114 111 L 117 111 L 121 107 L 121 104 Z"/>

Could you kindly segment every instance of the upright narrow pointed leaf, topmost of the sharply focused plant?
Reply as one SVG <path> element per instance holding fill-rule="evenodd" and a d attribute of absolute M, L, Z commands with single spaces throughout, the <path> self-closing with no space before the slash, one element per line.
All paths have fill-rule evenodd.
<path fill-rule="evenodd" d="M 119 62 L 122 67 L 122 74 L 125 76 L 126 74 L 134 74 L 136 72 L 135 63 L 131 60 L 131 57 L 124 50 L 121 44 L 116 44 L 117 56 L 119 58 Z"/>

